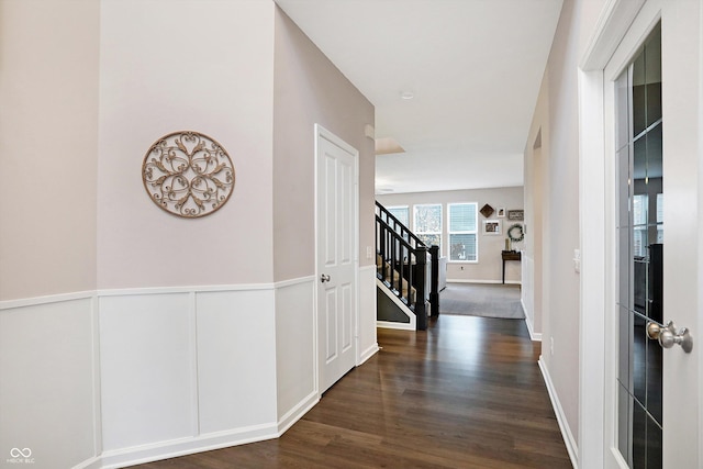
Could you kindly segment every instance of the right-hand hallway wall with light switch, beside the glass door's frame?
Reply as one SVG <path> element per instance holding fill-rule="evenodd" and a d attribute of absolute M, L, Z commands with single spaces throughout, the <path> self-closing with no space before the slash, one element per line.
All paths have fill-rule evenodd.
<path fill-rule="evenodd" d="M 542 360 L 551 378 L 569 431 L 579 429 L 579 60 L 605 1 L 566 0 L 545 70 L 525 150 L 528 223 L 540 245 L 527 245 L 536 272 L 535 322 Z M 540 132 L 540 145 L 535 148 Z M 551 343 L 554 342 L 554 347 Z"/>

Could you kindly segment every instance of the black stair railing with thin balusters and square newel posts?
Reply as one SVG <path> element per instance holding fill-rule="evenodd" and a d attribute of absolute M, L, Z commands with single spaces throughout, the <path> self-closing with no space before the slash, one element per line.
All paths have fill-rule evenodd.
<path fill-rule="evenodd" d="M 426 246 L 383 205 L 376 202 L 376 252 L 378 278 L 414 312 L 417 330 L 426 330 L 427 292 L 431 315 L 439 315 L 439 247 Z"/>

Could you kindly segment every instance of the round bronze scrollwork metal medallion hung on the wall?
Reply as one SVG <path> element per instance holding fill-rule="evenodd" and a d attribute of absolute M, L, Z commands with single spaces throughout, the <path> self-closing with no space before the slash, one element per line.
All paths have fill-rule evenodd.
<path fill-rule="evenodd" d="M 215 212 L 230 199 L 234 166 L 213 138 L 192 131 L 174 132 L 146 152 L 142 180 L 158 206 L 196 219 Z"/>

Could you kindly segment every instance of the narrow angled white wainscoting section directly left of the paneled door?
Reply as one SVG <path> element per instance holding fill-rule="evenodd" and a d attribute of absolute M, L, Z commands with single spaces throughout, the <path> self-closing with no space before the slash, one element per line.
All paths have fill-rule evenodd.
<path fill-rule="evenodd" d="M 317 402 L 315 277 L 276 288 L 276 384 L 279 431 Z"/>

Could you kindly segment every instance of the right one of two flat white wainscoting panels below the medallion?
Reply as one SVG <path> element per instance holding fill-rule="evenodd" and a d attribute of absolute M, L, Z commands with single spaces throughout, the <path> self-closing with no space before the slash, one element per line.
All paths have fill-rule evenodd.
<path fill-rule="evenodd" d="M 274 427 L 274 292 L 198 292 L 196 309 L 200 433 Z"/>

